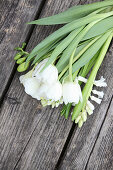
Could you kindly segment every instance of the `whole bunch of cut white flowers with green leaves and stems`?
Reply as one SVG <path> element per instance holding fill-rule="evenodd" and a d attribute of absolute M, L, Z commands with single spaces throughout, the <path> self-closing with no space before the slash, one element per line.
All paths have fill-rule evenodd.
<path fill-rule="evenodd" d="M 106 87 L 103 77 L 95 80 L 113 37 L 113 0 L 79 5 L 60 14 L 28 24 L 65 24 L 40 42 L 30 53 L 17 47 L 20 82 L 25 92 L 52 108 L 64 104 L 61 115 L 79 127 L 100 104 Z M 86 79 L 86 77 L 88 77 Z"/>

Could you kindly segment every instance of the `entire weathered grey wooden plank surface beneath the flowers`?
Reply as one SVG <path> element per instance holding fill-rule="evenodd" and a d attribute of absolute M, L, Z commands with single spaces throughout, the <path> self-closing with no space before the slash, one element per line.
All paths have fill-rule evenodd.
<path fill-rule="evenodd" d="M 1 16 L 5 16 L 0 22 L 0 35 L 2 35 L 0 48 L 2 47 L 2 53 L 4 54 L 0 55 L 0 71 L 2 71 L 2 74 L 0 74 L 0 81 L 2 82 L 0 85 L 1 96 L 4 90 L 9 87 L 10 83 L 8 82 L 10 77 L 13 78 L 13 56 L 15 54 L 13 48 L 27 39 L 27 41 L 29 40 L 27 50 L 30 51 L 38 42 L 59 27 L 36 26 L 32 34 L 30 34 L 30 27 L 25 26 L 23 23 L 33 20 L 37 13 L 40 13 L 41 9 L 40 17 L 43 17 L 58 13 L 78 3 L 84 4 L 96 1 L 46 0 L 45 4 L 44 0 L 19 0 L 14 2 L 7 0 L 5 1 L 7 2 L 6 4 L 4 1 L 2 3 L 0 2 L 0 6 L 6 9 L 0 11 Z M 9 13 L 10 20 L 7 18 L 7 13 Z M 18 18 L 21 21 L 19 23 L 16 22 Z M 7 25 L 7 22 L 9 25 Z M 15 22 L 17 24 L 16 26 Z M 16 27 L 14 33 L 13 31 L 11 33 L 10 31 L 4 33 L 5 29 L 10 30 L 12 27 Z M 5 48 L 7 49 L 6 51 Z M 106 113 L 113 94 L 112 65 L 113 49 L 111 47 L 98 74 L 98 78 L 103 75 L 108 83 L 108 88 L 104 89 L 104 100 L 101 107 L 98 106 L 96 108 L 94 115 L 88 118 L 82 129 L 76 127 L 72 129 L 71 119 L 66 121 L 63 117 L 60 117 L 61 108 L 42 108 L 40 102 L 25 94 L 18 80 L 20 74 L 16 73 L 4 98 L 0 113 L 0 170 L 51 170 L 55 169 L 55 167 L 61 170 L 105 169 L 104 166 L 101 166 L 102 163 L 104 165 L 106 163 L 105 167 L 112 168 L 112 164 L 107 165 L 107 161 L 110 162 L 113 155 L 112 151 L 110 152 L 112 147 L 110 143 L 112 141 L 112 124 L 108 124 L 112 113 L 111 117 Z M 111 111 L 112 107 L 108 113 Z M 111 136 L 109 135 L 110 137 L 107 140 L 106 146 L 106 148 L 110 147 L 109 153 L 107 154 L 106 150 L 104 150 L 102 156 L 104 160 L 101 159 L 98 161 L 96 158 L 101 141 L 103 141 L 103 131 L 106 132 L 106 135 L 109 128 L 111 128 L 109 132 Z M 100 138 L 98 138 L 99 132 Z M 104 141 L 101 150 L 106 145 L 106 139 Z M 104 158 L 104 155 L 107 158 Z M 101 157 L 101 155 L 98 157 Z M 97 164 L 96 167 L 93 158 Z"/>

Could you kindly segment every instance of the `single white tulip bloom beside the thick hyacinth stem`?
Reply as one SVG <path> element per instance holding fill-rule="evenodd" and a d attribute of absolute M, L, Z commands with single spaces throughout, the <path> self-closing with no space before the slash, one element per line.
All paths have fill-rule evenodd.
<path fill-rule="evenodd" d="M 63 101 L 65 104 L 75 103 L 82 100 L 81 88 L 77 82 L 67 82 L 63 84 Z"/>

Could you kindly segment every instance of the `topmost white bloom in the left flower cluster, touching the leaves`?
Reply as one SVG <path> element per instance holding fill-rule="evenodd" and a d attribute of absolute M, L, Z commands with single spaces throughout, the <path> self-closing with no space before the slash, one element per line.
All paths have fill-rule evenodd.
<path fill-rule="evenodd" d="M 53 84 L 58 79 L 58 70 L 55 66 L 50 64 L 44 71 L 40 72 L 47 61 L 48 59 L 45 59 L 36 66 L 33 77 L 36 77 L 43 83 Z"/>

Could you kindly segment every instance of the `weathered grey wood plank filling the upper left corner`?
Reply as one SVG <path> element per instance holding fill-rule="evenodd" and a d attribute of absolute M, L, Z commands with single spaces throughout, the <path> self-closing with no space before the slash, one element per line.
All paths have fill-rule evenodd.
<path fill-rule="evenodd" d="M 14 48 L 26 41 L 33 20 L 44 0 L 1 0 L 0 1 L 0 99 L 11 77 L 15 62 Z"/>

